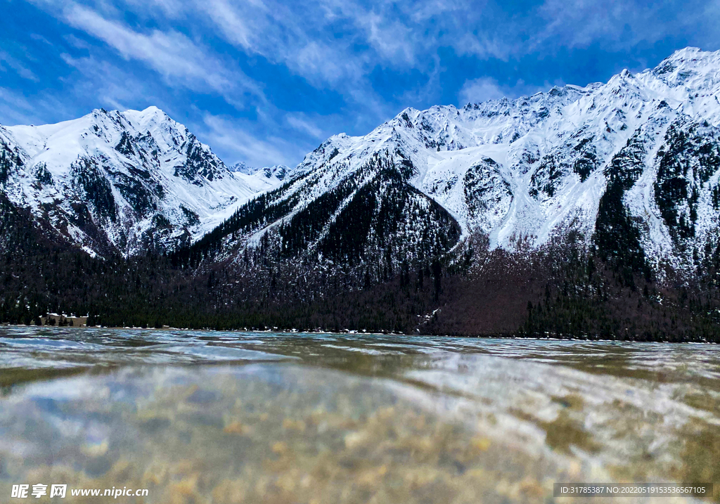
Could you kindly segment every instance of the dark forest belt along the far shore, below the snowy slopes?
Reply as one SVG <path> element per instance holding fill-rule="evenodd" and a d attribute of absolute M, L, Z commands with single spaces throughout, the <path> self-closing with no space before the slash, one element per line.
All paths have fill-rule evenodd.
<path fill-rule="evenodd" d="M 629 272 L 624 263 L 588 255 L 580 239 L 512 253 L 490 250 L 487 237 L 477 237 L 462 257 L 358 284 L 352 269 L 300 274 L 250 259 L 239 268 L 210 261 L 191 268 L 153 253 L 93 258 L 18 225 L 24 217 L 2 213 L 14 251 L 1 263 L 5 323 L 66 312 L 123 327 L 720 342 L 718 253 L 701 264 L 706 274 L 696 284 L 671 286 L 642 267 Z"/>

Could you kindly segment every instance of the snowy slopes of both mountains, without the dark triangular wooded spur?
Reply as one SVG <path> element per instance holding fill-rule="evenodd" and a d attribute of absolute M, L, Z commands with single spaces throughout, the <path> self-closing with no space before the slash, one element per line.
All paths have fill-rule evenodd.
<path fill-rule="evenodd" d="M 607 83 L 555 86 L 532 96 L 461 109 L 408 107 L 367 135 L 333 135 L 292 169 L 251 168 L 245 163 L 228 167 L 157 107 L 96 109 L 57 125 L 0 126 L 0 179 L 12 202 L 32 207 L 37 217 L 50 218 L 72 243 L 93 253 L 116 248 L 132 255 L 150 246 L 165 251 L 188 246 L 243 202 L 287 181 L 300 181 L 284 196 L 286 201 L 297 199 L 297 213 L 372 156 L 392 157 L 412 167 L 405 177 L 410 186 L 458 222 L 460 240 L 471 233 L 487 234 L 491 248 L 512 251 L 528 244 L 540 246 L 570 229 L 582 233 L 589 244 L 598 227 L 608 167 L 626 143 L 642 137 L 644 170 L 622 198 L 630 217 L 642 221 L 639 240 L 652 267 L 660 271 L 670 264 L 683 269 L 691 255 L 698 255 L 696 249 L 704 251 L 707 243 L 716 246 L 713 202 L 719 198 L 718 177 L 703 168 L 698 185 L 694 172 L 688 178 L 685 169 L 678 178 L 666 167 L 660 174 L 664 178 L 657 181 L 658 156 L 667 158 L 668 150 L 678 150 L 670 143 L 694 135 L 696 147 L 709 152 L 698 150 L 689 159 L 685 156 L 685 162 L 716 163 L 716 141 L 699 143 L 701 138 L 717 138 L 719 68 L 720 52 L 685 48 L 655 68 L 637 74 L 624 70 Z M 94 138 L 98 141 L 91 141 Z M 96 166 L 102 169 L 94 173 Z M 315 189 L 301 187 L 307 179 L 314 181 Z M 56 182 L 60 187 L 53 189 Z M 179 182 L 177 188 L 173 182 Z M 88 198 L 83 186 L 93 184 L 100 185 L 94 185 L 95 195 Z M 86 210 L 58 203 L 73 199 L 73 194 L 76 206 L 89 199 Z M 166 197 L 174 201 L 168 204 Z M 115 224 L 117 212 L 110 202 L 122 215 L 123 225 Z M 54 207 L 57 222 L 47 217 L 48 205 Z M 288 218 L 292 215 L 281 220 Z M 86 232 L 77 222 L 88 220 L 96 229 Z M 268 222 L 267 230 L 279 222 Z M 330 222 L 325 224 L 323 228 L 329 229 Z M 680 232 L 674 229 L 678 225 Z M 249 243 L 258 238 L 253 235 Z M 105 243 L 93 246 L 98 240 Z"/>

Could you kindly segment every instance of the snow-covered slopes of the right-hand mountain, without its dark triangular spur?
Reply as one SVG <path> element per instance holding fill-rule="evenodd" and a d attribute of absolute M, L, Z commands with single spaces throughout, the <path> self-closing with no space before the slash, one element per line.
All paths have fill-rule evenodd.
<path fill-rule="evenodd" d="M 382 158 L 454 217 L 461 239 L 480 232 L 492 246 L 516 249 L 572 229 L 589 242 L 598 225 L 612 228 L 598 221 L 598 207 L 608 180 L 627 172 L 617 186 L 620 204 L 652 264 L 692 267 L 720 236 L 719 96 L 720 52 L 687 48 L 605 84 L 462 109 L 408 108 L 363 137 L 329 138 L 294 168 L 298 178 L 271 194 L 263 225 L 246 229 L 257 243 L 300 225 L 296 215 L 333 194 L 312 251 L 356 197 L 343 187 L 374 180 Z"/>

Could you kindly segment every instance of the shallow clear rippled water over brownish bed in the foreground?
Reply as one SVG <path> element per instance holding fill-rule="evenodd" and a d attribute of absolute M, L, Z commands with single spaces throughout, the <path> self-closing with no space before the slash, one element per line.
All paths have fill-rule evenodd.
<path fill-rule="evenodd" d="M 720 347 L 0 328 L 0 502 L 577 501 L 554 482 L 720 502 Z"/>

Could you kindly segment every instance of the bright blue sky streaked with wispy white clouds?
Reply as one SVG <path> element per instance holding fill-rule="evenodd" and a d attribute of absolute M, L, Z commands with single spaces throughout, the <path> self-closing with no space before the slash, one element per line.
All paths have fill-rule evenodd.
<path fill-rule="evenodd" d="M 720 0 L 0 0 L 0 14 L 0 124 L 156 105 L 253 166 L 298 163 L 405 107 L 720 48 Z"/>

